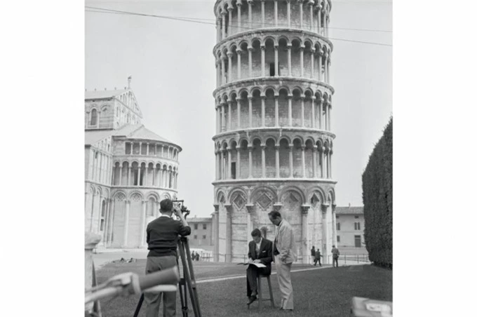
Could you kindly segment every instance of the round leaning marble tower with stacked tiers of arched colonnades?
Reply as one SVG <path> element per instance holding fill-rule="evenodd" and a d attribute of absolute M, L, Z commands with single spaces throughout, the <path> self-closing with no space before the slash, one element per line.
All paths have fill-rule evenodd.
<path fill-rule="evenodd" d="M 330 0 L 217 0 L 215 260 L 246 259 L 278 210 L 298 263 L 336 244 L 331 166 Z"/>

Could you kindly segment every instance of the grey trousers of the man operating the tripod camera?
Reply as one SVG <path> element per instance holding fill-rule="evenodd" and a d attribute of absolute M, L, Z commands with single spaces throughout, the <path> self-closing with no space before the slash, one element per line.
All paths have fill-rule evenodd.
<path fill-rule="evenodd" d="M 167 255 L 165 257 L 147 257 L 146 274 L 175 267 L 177 257 Z M 163 299 L 163 316 L 175 316 L 175 292 L 145 292 L 146 317 L 159 317 L 159 305 Z"/>

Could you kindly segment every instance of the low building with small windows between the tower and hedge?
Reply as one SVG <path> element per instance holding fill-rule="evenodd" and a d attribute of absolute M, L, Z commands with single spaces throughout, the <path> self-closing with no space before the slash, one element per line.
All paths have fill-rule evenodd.
<path fill-rule="evenodd" d="M 363 248 L 363 207 L 336 207 L 336 232 L 339 247 Z"/>

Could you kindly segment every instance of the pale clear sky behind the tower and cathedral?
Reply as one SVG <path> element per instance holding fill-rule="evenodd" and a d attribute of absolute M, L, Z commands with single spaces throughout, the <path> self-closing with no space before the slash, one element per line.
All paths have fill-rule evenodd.
<path fill-rule="evenodd" d="M 85 12 L 85 88 L 131 88 L 149 130 L 179 144 L 178 197 L 213 213 L 215 1 L 86 1 L 211 24 Z M 87 9 L 91 10 L 91 9 Z M 363 205 L 361 175 L 392 115 L 392 1 L 332 1 L 332 175 L 338 206 Z M 370 31 L 373 30 L 373 31 Z M 379 31 L 379 32 L 378 32 Z M 387 32 L 383 32 L 387 31 Z M 354 42 L 353 42 L 354 41 Z M 370 42 L 370 43 L 357 43 Z M 371 43 L 385 43 L 388 46 Z"/>

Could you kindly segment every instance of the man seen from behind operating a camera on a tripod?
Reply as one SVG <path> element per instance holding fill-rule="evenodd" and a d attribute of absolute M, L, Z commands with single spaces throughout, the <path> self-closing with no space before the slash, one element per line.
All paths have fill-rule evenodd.
<path fill-rule="evenodd" d="M 161 201 L 161 215 L 147 225 L 146 274 L 161 271 L 177 265 L 178 235 L 189 236 L 191 228 L 182 212 L 170 199 Z M 180 221 L 173 220 L 173 213 Z M 145 292 L 146 317 L 159 317 L 159 304 L 163 298 L 163 316 L 175 316 L 174 292 Z"/>

